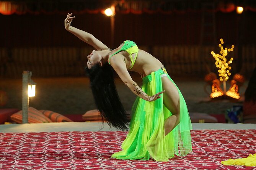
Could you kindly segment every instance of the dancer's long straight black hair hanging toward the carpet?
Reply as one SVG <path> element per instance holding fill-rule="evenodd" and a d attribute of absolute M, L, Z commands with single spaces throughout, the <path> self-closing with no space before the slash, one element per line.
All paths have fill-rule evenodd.
<path fill-rule="evenodd" d="M 96 107 L 103 120 L 105 119 L 109 126 L 127 131 L 127 112 L 117 93 L 111 66 L 108 63 L 103 66 L 96 64 L 91 69 L 86 67 L 85 70 L 90 78 Z"/>

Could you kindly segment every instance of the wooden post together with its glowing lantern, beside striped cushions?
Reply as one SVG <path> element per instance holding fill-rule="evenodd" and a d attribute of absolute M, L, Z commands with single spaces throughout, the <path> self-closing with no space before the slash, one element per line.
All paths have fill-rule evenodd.
<path fill-rule="evenodd" d="M 22 74 L 22 123 L 28 123 L 29 97 L 36 95 L 36 83 L 31 79 L 32 72 Z"/>

